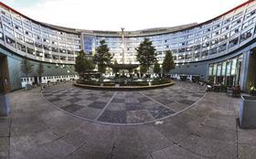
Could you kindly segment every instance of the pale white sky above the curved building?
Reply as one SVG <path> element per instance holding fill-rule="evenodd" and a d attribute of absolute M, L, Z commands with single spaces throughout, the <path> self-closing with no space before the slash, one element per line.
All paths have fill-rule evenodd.
<path fill-rule="evenodd" d="M 133 31 L 202 23 L 247 0 L 0 0 L 37 21 L 92 30 Z"/>

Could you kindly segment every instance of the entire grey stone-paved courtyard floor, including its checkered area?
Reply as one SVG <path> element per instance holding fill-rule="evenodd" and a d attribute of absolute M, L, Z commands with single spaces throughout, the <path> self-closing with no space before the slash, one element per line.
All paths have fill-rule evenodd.
<path fill-rule="evenodd" d="M 50 100 L 49 94 L 58 100 Z M 84 98 L 85 105 L 78 94 L 95 99 Z M 80 90 L 70 84 L 51 87 L 45 96 L 39 89 L 17 90 L 10 93 L 12 113 L 0 117 L 0 158 L 254 159 L 256 130 L 242 130 L 236 122 L 240 99 L 225 93 L 203 94 L 196 84 L 178 81 L 170 88 L 135 92 Z M 129 106 L 126 99 L 138 104 Z M 145 101 L 138 99 L 154 104 L 143 106 Z M 104 104 L 92 106 L 90 102 Z M 124 104 L 116 108 L 113 103 Z M 83 116 L 86 109 L 91 116 Z M 112 119 L 116 110 L 125 118 Z M 145 111 L 150 118 L 136 120 L 130 110 Z"/>

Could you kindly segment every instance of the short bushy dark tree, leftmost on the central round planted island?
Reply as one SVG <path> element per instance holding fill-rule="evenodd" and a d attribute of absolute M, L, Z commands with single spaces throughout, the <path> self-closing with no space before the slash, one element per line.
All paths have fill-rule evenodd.
<path fill-rule="evenodd" d="M 94 69 L 94 65 L 91 59 L 87 58 L 83 51 L 79 52 L 74 67 L 80 75 L 82 75 L 85 71 L 91 71 L 92 69 Z"/>

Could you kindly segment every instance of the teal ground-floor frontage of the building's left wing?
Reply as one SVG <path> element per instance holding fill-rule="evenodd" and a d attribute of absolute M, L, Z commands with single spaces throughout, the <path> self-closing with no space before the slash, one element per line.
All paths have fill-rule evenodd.
<path fill-rule="evenodd" d="M 63 65 L 55 63 L 42 62 L 44 73 L 42 78 L 38 77 L 37 68 L 39 61 L 29 59 L 32 72 L 29 77 L 21 71 L 21 62 L 24 57 L 16 55 L 15 52 L 0 46 L 0 92 L 3 90 L 3 83 L 9 84 L 10 90 L 18 90 L 25 86 L 26 83 L 32 84 L 38 82 L 54 82 L 57 80 L 71 80 L 76 78 L 76 72 L 73 65 Z"/>

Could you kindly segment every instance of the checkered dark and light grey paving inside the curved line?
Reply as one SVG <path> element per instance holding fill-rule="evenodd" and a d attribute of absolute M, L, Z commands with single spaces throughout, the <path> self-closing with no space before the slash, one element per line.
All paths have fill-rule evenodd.
<path fill-rule="evenodd" d="M 43 95 L 57 108 L 80 119 L 133 125 L 174 116 L 199 101 L 205 90 L 182 81 L 165 89 L 141 91 L 86 90 L 66 83 L 44 90 Z"/>

